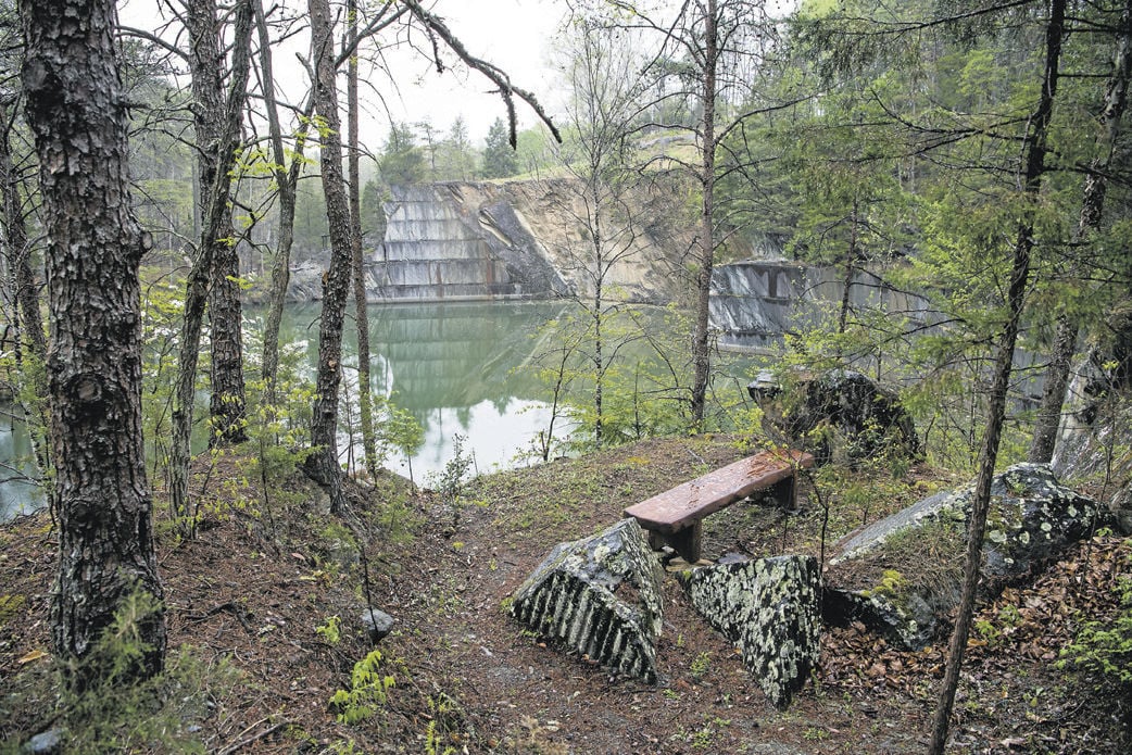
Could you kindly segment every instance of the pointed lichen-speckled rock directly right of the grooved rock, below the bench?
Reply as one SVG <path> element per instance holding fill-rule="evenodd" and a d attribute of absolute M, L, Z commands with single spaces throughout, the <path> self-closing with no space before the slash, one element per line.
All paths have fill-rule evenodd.
<path fill-rule="evenodd" d="M 705 566 L 686 573 L 684 584 L 696 610 L 743 652 L 766 697 L 789 705 L 820 654 L 817 559 Z"/>

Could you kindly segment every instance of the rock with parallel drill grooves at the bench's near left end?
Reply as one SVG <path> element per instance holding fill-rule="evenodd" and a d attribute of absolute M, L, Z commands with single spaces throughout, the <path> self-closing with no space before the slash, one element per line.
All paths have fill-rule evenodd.
<path fill-rule="evenodd" d="M 663 572 L 635 520 L 559 543 L 520 585 L 511 614 L 602 666 L 657 680 Z"/>

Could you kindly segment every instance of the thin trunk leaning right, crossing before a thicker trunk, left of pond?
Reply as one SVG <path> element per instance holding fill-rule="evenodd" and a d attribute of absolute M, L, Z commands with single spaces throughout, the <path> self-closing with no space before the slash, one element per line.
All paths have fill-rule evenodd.
<path fill-rule="evenodd" d="M 212 171 L 212 186 L 208 189 L 209 205 L 205 208 L 204 230 L 197 257 L 189 271 L 185 292 L 185 314 L 181 323 L 181 335 L 178 341 L 177 386 L 173 393 L 172 441 L 169 462 L 169 499 L 170 506 L 178 516 L 189 512 L 189 441 L 192 434 L 192 410 L 196 398 L 197 362 L 199 357 L 200 329 L 204 321 L 205 304 L 208 299 L 208 284 L 212 277 L 213 251 L 217 239 L 225 239 L 224 230 L 231 232 L 231 209 L 229 194 L 232 185 L 232 165 L 235 160 L 235 148 L 239 144 L 240 122 L 243 112 L 243 101 L 248 87 L 249 42 L 251 37 L 251 0 L 242 0 L 237 8 L 235 38 L 232 49 L 232 78 L 228 102 L 224 104 L 222 129 L 215 141 L 209 145 L 220 156 L 220 162 Z M 201 20 L 199 34 L 207 34 L 211 25 Z M 194 25 L 196 28 L 196 25 Z M 196 45 L 196 36 L 194 36 Z M 194 78 L 196 87 L 196 78 Z M 211 97 L 211 93 L 201 92 L 200 96 Z M 204 148 L 204 147 L 201 147 Z M 203 166 L 201 166 L 203 170 Z M 190 524 L 190 534 L 192 526 Z"/>

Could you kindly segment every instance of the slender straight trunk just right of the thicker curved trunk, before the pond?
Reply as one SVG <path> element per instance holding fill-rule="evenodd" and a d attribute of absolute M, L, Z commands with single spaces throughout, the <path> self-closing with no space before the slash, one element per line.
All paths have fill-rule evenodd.
<path fill-rule="evenodd" d="M 358 45 L 358 3 L 346 3 L 346 43 Z M 366 471 L 377 475 L 377 438 L 374 436 L 372 379 L 369 374 L 369 311 L 366 301 L 366 268 L 361 255 L 361 188 L 359 183 L 358 151 L 358 53 L 350 55 L 346 77 L 346 105 L 350 141 L 350 256 L 353 266 L 354 320 L 358 327 L 358 403 L 361 412 L 361 447 L 366 456 Z"/>

